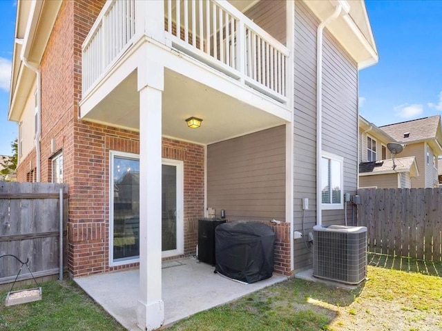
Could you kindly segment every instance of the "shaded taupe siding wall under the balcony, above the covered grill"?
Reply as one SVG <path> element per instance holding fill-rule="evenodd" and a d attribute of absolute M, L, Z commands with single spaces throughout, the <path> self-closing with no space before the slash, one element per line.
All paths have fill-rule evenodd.
<path fill-rule="evenodd" d="M 207 146 L 207 197 L 218 216 L 285 220 L 285 126 Z"/>

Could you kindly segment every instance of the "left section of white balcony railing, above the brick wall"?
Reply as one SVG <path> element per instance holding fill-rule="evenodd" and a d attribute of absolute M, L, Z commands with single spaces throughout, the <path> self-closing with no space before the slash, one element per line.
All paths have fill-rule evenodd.
<path fill-rule="evenodd" d="M 107 1 L 83 43 L 83 92 L 128 48 L 134 34 L 135 0 Z"/>

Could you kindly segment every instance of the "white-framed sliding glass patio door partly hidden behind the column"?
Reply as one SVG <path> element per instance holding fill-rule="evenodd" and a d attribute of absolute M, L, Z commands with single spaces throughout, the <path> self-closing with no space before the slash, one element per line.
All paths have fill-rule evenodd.
<path fill-rule="evenodd" d="M 162 163 L 162 219 L 158 226 L 162 229 L 163 257 L 171 257 L 184 252 L 183 164 L 169 159 L 163 159 Z M 110 207 L 111 265 L 136 262 L 140 258 L 140 161 L 137 154 L 111 152 Z"/>

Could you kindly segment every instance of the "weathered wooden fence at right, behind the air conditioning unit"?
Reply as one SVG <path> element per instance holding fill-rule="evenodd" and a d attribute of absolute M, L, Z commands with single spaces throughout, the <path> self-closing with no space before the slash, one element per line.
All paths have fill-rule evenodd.
<path fill-rule="evenodd" d="M 368 249 L 442 261 L 442 189 L 361 189 L 358 225 L 367 226 Z"/>

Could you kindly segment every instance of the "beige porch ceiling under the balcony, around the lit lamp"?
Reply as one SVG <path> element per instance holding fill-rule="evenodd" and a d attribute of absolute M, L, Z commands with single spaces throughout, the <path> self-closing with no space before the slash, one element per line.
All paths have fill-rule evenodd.
<path fill-rule="evenodd" d="M 88 112 L 84 119 L 128 130 L 140 130 L 139 109 L 135 71 Z M 203 120 L 200 128 L 187 127 L 185 119 L 191 116 Z M 209 144 L 282 123 L 285 121 L 279 117 L 165 69 L 162 94 L 164 136 Z"/>

